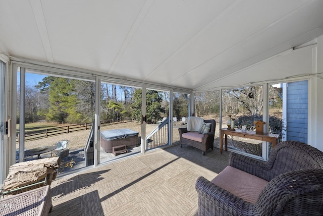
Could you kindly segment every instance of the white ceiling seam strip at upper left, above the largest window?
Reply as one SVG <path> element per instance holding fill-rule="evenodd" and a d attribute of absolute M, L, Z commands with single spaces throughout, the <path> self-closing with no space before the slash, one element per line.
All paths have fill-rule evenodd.
<path fill-rule="evenodd" d="M 35 21 L 36 21 L 39 36 L 43 45 L 43 49 L 46 55 L 46 59 L 48 62 L 54 63 L 41 2 L 40 0 L 30 0 L 30 4 L 35 17 Z"/>

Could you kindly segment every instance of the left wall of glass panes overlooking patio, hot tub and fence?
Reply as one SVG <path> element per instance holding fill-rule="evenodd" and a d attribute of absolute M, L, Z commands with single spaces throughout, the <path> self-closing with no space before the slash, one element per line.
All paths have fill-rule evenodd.
<path fill-rule="evenodd" d="M 146 93 L 143 95 L 140 85 L 117 85 L 90 74 L 64 74 L 60 69 L 38 68 L 14 64 L 17 74 L 16 163 L 58 156 L 54 146 L 65 140 L 68 141 L 69 152 L 63 158 L 60 173 L 172 143 L 169 129 L 173 127 L 168 118 L 173 96 L 171 91 L 144 86 Z M 97 85 L 99 90 L 95 89 L 95 81 L 100 82 Z M 97 97 L 96 92 L 99 94 Z M 95 98 L 99 102 L 95 102 Z M 142 98 L 146 101 L 145 105 L 142 104 Z M 187 98 L 178 94 L 173 101 L 179 99 L 185 101 L 184 106 L 177 104 L 180 107 L 179 116 L 187 117 Z M 95 105 L 99 106 L 98 111 L 95 111 Z M 142 115 L 144 108 L 145 114 Z M 96 130 L 93 124 L 95 112 L 98 112 L 97 119 L 100 120 Z M 126 135 L 122 143 L 112 144 L 112 149 L 107 151 L 106 145 L 111 144 L 108 142 L 111 140 L 102 139 L 101 133 L 120 129 L 135 131 L 135 142 L 125 143 L 128 141 Z M 94 151 L 96 144 L 99 149 L 97 153 Z M 113 149 L 120 145 L 125 145 L 125 151 Z"/>

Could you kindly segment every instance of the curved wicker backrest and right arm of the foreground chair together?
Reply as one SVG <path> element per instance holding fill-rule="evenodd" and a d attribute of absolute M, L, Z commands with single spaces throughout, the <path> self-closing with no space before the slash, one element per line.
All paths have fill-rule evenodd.
<path fill-rule="evenodd" d="M 259 215 L 321 215 L 323 152 L 298 141 L 284 141 L 266 166 L 270 182 L 254 210 Z"/>

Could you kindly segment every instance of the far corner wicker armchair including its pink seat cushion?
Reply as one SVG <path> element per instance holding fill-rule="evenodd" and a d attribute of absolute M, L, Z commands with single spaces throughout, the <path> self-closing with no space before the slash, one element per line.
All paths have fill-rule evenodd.
<path fill-rule="evenodd" d="M 189 119 L 189 118 L 187 118 Z M 216 120 L 203 120 L 204 123 L 210 124 L 208 131 L 195 131 L 191 132 L 188 128 L 179 128 L 181 147 L 183 144 L 190 145 L 202 150 L 202 154 L 205 155 L 205 151 L 209 148 L 213 149 L 214 133 L 216 132 Z"/>

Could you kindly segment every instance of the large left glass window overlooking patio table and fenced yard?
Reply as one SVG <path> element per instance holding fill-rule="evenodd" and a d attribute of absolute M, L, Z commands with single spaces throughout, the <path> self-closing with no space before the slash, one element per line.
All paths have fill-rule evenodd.
<path fill-rule="evenodd" d="M 25 73 L 25 82 L 20 73 Z M 85 148 L 93 148 L 88 142 L 92 141 L 94 82 L 48 74 L 18 69 L 16 162 L 61 156 L 59 173 L 93 165 L 93 149 L 88 161 Z"/>

